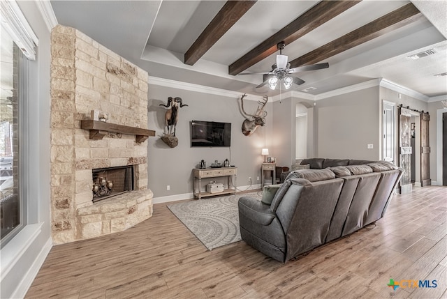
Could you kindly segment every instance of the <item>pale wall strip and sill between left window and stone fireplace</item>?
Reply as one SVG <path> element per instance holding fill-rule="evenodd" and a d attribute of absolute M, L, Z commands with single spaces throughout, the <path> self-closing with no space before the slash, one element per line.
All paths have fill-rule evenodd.
<path fill-rule="evenodd" d="M 38 37 L 29 61 L 28 224 L 1 249 L 1 298 L 25 295 L 51 248 L 50 238 L 50 29 L 34 1 L 17 1 Z"/>

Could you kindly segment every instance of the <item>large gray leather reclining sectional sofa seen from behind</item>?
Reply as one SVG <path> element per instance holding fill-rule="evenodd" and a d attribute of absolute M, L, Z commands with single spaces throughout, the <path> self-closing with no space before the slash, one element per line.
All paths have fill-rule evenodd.
<path fill-rule="evenodd" d="M 241 197 L 242 240 L 286 262 L 383 217 L 403 169 L 383 161 L 312 158 L 291 171 L 271 204 Z"/>

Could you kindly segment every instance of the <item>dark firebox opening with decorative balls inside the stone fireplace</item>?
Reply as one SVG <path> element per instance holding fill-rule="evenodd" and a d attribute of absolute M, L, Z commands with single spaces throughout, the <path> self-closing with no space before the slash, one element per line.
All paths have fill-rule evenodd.
<path fill-rule="evenodd" d="M 93 202 L 134 190 L 133 165 L 92 169 Z"/>

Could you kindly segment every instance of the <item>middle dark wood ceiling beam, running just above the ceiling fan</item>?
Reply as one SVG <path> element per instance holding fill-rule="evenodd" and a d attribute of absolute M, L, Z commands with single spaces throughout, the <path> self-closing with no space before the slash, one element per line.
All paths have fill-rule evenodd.
<path fill-rule="evenodd" d="M 321 1 L 297 17 L 283 29 L 274 33 L 250 52 L 237 59 L 228 67 L 228 74 L 237 75 L 255 63 L 277 52 L 277 44 L 284 41 L 286 45 L 316 29 L 333 17 L 360 3 L 360 1 Z"/>

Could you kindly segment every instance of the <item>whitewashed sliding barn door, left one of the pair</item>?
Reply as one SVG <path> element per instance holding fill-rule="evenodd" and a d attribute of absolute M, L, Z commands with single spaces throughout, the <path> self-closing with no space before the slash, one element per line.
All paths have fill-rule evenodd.
<path fill-rule="evenodd" d="M 400 192 L 410 193 L 411 185 L 411 111 L 399 109 L 399 166 L 404 169 L 400 179 Z"/>

